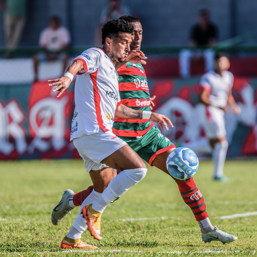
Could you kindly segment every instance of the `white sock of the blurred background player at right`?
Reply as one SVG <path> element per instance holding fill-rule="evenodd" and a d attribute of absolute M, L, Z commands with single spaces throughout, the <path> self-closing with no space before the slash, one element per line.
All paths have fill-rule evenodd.
<path fill-rule="evenodd" d="M 215 178 L 223 176 L 223 168 L 226 160 L 228 147 L 229 143 L 226 140 L 220 141 L 214 145 L 214 149 L 212 152 L 212 160 L 214 164 L 213 175 Z"/>

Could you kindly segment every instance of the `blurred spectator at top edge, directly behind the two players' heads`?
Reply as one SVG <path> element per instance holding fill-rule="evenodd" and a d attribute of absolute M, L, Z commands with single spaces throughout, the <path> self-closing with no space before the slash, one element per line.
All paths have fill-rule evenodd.
<path fill-rule="evenodd" d="M 121 0 L 108 0 L 108 5 L 103 8 L 100 16 L 100 25 L 96 29 L 95 33 L 95 43 L 97 46 L 102 45 L 102 27 L 110 20 L 118 19 L 123 15 L 130 15 L 130 9 L 121 3 Z"/>

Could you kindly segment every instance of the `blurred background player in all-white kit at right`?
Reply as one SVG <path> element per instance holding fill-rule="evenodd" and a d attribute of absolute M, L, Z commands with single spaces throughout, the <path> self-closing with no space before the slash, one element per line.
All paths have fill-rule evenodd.
<path fill-rule="evenodd" d="M 203 126 L 213 149 L 213 177 L 215 180 L 224 182 L 228 180 L 223 175 L 227 148 L 229 146 L 224 120 L 227 104 L 230 104 L 235 114 L 240 113 L 240 107 L 236 104 L 231 93 L 234 77 L 228 71 L 229 67 L 230 62 L 227 55 L 218 53 L 215 56 L 214 71 L 204 74 L 200 81 L 202 86 L 200 102 L 206 106 Z"/>

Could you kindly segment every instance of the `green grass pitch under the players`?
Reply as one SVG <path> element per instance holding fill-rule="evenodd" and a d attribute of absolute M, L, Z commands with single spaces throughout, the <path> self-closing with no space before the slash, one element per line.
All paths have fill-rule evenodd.
<path fill-rule="evenodd" d="M 102 215 L 103 240 L 93 240 L 88 231 L 83 234 L 85 241 L 99 250 L 60 248 L 78 208 L 59 225 L 51 223 L 52 209 L 63 190 L 78 192 L 91 185 L 82 160 L 4 161 L 0 162 L 0 170 L 1 256 L 256 255 L 256 160 L 227 161 L 229 183 L 211 179 L 211 161 L 200 161 L 194 176 L 212 224 L 236 235 L 236 242 L 203 243 L 200 228 L 176 183 L 167 174 L 149 167 L 141 182 L 106 208 Z M 246 213 L 251 215 L 229 216 Z"/>

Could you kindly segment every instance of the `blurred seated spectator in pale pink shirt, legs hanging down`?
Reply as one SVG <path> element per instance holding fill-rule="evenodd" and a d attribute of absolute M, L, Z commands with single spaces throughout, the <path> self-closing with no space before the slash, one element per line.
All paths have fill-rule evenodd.
<path fill-rule="evenodd" d="M 35 80 L 38 80 L 39 61 L 56 61 L 60 59 L 63 62 L 63 72 L 65 71 L 68 63 L 66 51 L 70 42 L 71 37 L 67 28 L 61 27 L 59 17 L 52 16 L 49 19 L 49 27 L 45 28 L 39 36 L 41 52 L 33 58 Z"/>

